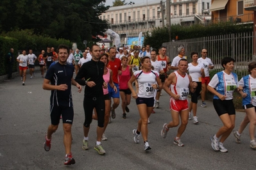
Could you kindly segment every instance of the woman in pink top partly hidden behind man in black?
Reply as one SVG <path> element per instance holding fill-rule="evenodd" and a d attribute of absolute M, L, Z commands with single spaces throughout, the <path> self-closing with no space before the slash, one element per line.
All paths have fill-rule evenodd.
<path fill-rule="evenodd" d="M 103 75 L 103 79 L 104 81 L 107 83 L 107 84 L 110 84 L 110 86 L 112 88 L 114 88 L 114 91 L 115 93 L 117 92 L 117 88 L 115 87 L 115 84 L 113 82 L 113 79 L 112 79 L 112 70 L 108 69 L 107 68 L 107 65 L 108 65 L 108 54 L 101 54 L 101 56 L 99 56 L 99 61 L 102 61 L 105 66 L 104 66 L 104 75 Z M 101 140 L 103 141 L 107 141 L 107 137 L 105 135 L 105 130 L 107 128 L 107 125 L 108 125 L 108 120 L 110 118 L 110 107 L 111 107 L 111 102 L 110 102 L 110 97 L 108 95 L 108 88 L 103 88 L 103 93 L 104 93 L 104 98 L 105 98 L 105 120 L 104 120 L 104 133 L 102 135 L 102 138 Z M 93 119 L 94 120 L 97 120 L 97 112 L 96 110 L 94 109 L 94 112 L 95 114 L 93 115 Z"/>

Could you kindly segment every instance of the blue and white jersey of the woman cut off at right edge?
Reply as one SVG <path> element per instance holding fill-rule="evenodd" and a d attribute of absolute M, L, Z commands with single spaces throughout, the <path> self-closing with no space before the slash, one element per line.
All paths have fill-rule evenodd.
<path fill-rule="evenodd" d="M 243 98 L 243 105 L 252 104 L 256 106 L 256 79 L 253 79 L 251 75 L 246 75 L 238 84 L 243 87 L 243 92 L 247 94 Z"/>

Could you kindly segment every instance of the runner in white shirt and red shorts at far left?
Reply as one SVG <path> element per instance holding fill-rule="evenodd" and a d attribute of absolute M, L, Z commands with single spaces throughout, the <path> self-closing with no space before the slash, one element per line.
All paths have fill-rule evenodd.
<path fill-rule="evenodd" d="M 28 69 L 28 56 L 26 55 L 26 50 L 22 50 L 22 54 L 17 57 L 19 62 L 19 75 L 21 75 L 22 86 L 25 86 L 26 81 L 26 71 Z"/>

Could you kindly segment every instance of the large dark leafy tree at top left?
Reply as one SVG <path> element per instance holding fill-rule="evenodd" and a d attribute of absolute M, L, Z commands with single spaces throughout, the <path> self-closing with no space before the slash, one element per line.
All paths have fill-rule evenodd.
<path fill-rule="evenodd" d="M 0 32 L 33 29 L 51 38 L 73 42 L 103 35 L 107 20 L 99 15 L 108 10 L 105 0 L 1 0 Z"/>

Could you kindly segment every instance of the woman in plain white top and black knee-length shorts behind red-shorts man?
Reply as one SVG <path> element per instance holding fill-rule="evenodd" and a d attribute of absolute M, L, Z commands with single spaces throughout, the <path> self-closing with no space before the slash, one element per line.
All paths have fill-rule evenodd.
<path fill-rule="evenodd" d="M 191 52 L 192 62 L 189 63 L 189 75 L 193 82 L 198 84 L 196 91 L 191 93 L 191 103 L 189 104 L 189 120 L 191 120 L 191 110 L 193 111 L 193 123 L 198 124 L 198 117 L 196 117 L 196 110 L 198 107 L 198 96 L 201 91 L 201 78 L 205 77 L 205 72 L 203 70 L 203 65 L 198 63 L 198 52 Z"/>

